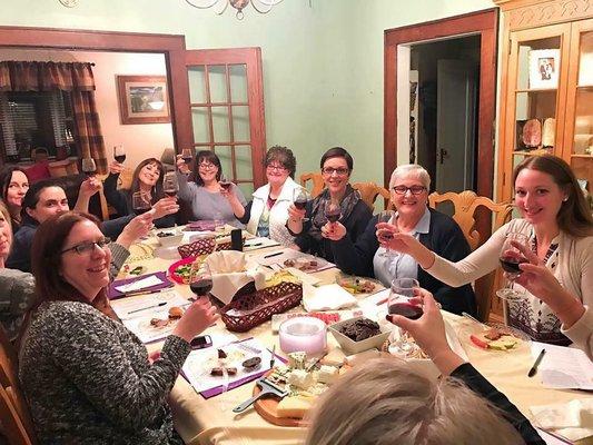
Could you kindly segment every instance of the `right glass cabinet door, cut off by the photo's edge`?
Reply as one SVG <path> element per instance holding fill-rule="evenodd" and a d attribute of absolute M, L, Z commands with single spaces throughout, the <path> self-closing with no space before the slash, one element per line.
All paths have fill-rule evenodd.
<path fill-rule="evenodd" d="M 564 159 L 589 196 L 593 191 L 593 20 L 573 23 L 566 108 Z"/>

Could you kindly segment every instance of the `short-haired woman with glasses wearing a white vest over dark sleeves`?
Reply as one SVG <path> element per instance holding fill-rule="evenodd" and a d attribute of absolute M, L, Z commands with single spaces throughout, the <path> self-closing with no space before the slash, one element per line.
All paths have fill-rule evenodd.
<path fill-rule="evenodd" d="M 259 187 L 253 200 L 235 216 L 247 225 L 250 234 L 268 237 L 283 246 L 291 246 L 295 237 L 288 233 L 288 206 L 293 204 L 295 190 L 303 189 L 294 181 L 296 158 L 293 150 L 274 146 L 264 161 L 268 184 Z"/>

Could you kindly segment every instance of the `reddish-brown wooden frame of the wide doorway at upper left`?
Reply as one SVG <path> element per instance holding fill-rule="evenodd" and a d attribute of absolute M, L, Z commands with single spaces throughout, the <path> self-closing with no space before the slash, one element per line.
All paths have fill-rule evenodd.
<path fill-rule="evenodd" d="M 176 105 L 172 95 L 174 82 L 175 85 L 187 83 L 185 67 L 179 63 L 171 63 L 171 55 L 179 55 L 186 49 L 185 36 L 57 28 L 0 27 L 0 47 L 164 53 L 171 102 L 171 126 L 175 146 L 181 147 L 184 141 L 187 140 L 187 135 L 191 135 L 191 122 L 187 117 L 181 118 L 184 116 L 182 112 L 176 112 L 179 110 L 179 107 Z"/>

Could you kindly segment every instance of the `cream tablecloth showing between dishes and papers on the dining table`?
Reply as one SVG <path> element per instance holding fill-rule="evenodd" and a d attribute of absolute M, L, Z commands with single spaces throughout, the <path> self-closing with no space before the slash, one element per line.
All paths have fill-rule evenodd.
<path fill-rule="evenodd" d="M 279 247 L 266 247 L 264 251 L 276 251 Z M 138 245 L 130 248 L 131 257 L 127 261 L 127 270 L 141 267 L 142 273 L 156 273 L 167 270 L 178 260 L 175 248 L 158 247 L 158 238 L 150 236 L 142 239 Z M 261 250 L 253 250 L 246 255 L 260 254 Z M 312 274 L 319 280 L 319 285 L 333 284 L 340 271 L 332 267 Z M 123 273 L 120 278 L 123 277 Z M 380 285 L 378 285 L 380 286 Z M 181 296 L 191 297 L 188 285 L 175 285 L 175 290 Z M 365 295 L 362 296 L 366 297 Z M 116 300 L 117 301 L 117 300 Z M 305 312 L 299 306 L 293 312 Z M 574 389 L 551 389 L 543 386 L 540 378 L 527 376 L 533 365 L 533 356 L 528 347 L 513 352 L 484 350 L 472 344 L 467 334 L 471 324 L 475 323 L 466 317 L 443 312 L 445 320 L 455 330 L 467 359 L 484 375 L 498 390 L 531 421 L 530 407 L 536 405 L 569 403 L 576 398 L 593 398 L 587 392 Z M 204 334 L 228 334 L 225 324 L 219 319 L 216 325 L 209 327 Z M 279 337 L 273 333 L 270 320 L 251 328 L 246 333 L 234 333 L 243 338 L 257 338 L 266 348 L 286 357 L 280 349 Z M 328 349 L 339 348 L 335 339 L 327 336 Z M 147 348 L 150 352 L 158 350 L 162 342 L 150 343 Z M 253 395 L 255 382 L 244 384 L 223 394 L 205 398 L 188 383 L 182 375 L 177 382 L 169 396 L 169 405 L 174 413 L 175 427 L 187 444 L 217 444 L 217 445 L 297 445 L 302 444 L 306 436 L 306 426 L 278 426 L 268 423 L 253 407 L 241 414 L 235 414 L 233 408 Z M 587 439 L 579 442 L 586 442 Z"/>

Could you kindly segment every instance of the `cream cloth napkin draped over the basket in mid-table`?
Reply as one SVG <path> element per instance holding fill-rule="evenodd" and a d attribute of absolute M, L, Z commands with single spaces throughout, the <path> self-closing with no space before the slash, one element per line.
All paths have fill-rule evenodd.
<path fill-rule="evenodd" d="M 266 287 L 266 274 L 255 261 L 247 259 L 243 251 L 220 250 L 210 254 L 206 263 L 213 273 L 213 294 L 228 305 L 237 290 L 255 281 L 257 290 Z"/>

